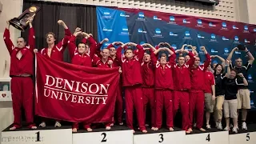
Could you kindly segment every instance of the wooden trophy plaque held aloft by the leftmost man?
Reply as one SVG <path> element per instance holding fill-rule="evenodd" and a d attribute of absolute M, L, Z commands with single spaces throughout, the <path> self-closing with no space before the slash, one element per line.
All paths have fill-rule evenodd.
<path fill-rule="evenodd" d="M 26 9 L 18 18 L 12 18 L 9 21 L 10 25 L 18 30 L 22 30 L 22 32 L 25 31 L 30 22 L 27 18 L 34 17 L 39 10 L 40 7 L 38 6 L 30 6 L 30 8 Z"/>

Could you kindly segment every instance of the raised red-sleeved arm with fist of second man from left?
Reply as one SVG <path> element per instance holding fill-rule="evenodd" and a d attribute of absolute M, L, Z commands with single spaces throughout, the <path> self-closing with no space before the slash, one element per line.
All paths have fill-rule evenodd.
<path fill-rule="evenodd" d="M 66 26 L 65 22 L 63 22 L 62 20 L 58 20 L 58 25 L 63 26 L 63 28 L 65 29 L 64 38 L 62 38 L 62 41 L 58 42 L 58 44 L 56 45 L 58 50 L 60 50 L 63 53 L 64 50 L 66 49 L 67 43 L 70 40 L 70 37 L 72 34 L 70 32 L 70 29 Z"/>

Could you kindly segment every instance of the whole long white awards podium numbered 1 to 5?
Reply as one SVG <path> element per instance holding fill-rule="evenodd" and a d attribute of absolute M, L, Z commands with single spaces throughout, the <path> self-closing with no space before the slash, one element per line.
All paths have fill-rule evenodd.
<path fill-rule="evenodd" d="M 164 128 L 154 131 L 147 128 L 148 133 L 142 134 L 128 129 L 126 126 L 113 126 L 111 130 L 105 128 L 94 129 L 92 132 L 78 130 L 72 133 L 71 126 L 54 128 L 38 128 L 29 130 L 10 131 L 9 127 L 2 131 L 1 144 L 170 144 L 170 143 L 190 143 L 190 144 L 255 144 L 256 124 L 251 124 L 249 130 L 238 130 L 238 134 L 224 130 L 199 130 L 193 134 L 186 134 L 184 130 L 174 127 L 170 132 Z"/>

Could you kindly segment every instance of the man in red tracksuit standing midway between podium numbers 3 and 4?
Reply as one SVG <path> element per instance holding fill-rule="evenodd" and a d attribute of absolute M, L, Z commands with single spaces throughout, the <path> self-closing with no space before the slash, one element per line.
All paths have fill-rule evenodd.
<path fill-rule="evenodd" d="M 191 89 L 190 83 L 190 68 L 194 65 L 194 54 L 188 50 L 176 50 L 175 53 L 186 53 L 190 59 L 185 62 L 183 55 L 178 57 L 178 63 L 174 65 L 173 74 L 174 74 L 174 117 L 177 113 L 178 107 L 181 107 L 182 110 L 182 130 L 188 131 L 190 126 L 190 95 L 189 90 Z"/>

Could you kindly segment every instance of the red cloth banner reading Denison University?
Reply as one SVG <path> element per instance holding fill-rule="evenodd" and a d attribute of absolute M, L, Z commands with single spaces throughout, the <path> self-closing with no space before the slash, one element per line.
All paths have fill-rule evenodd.
<path fill-rule="evenodd" d="M 36 54 L 36 114 L 69 122 L 111 122 L 118 68 L 58 62 Z"/>

